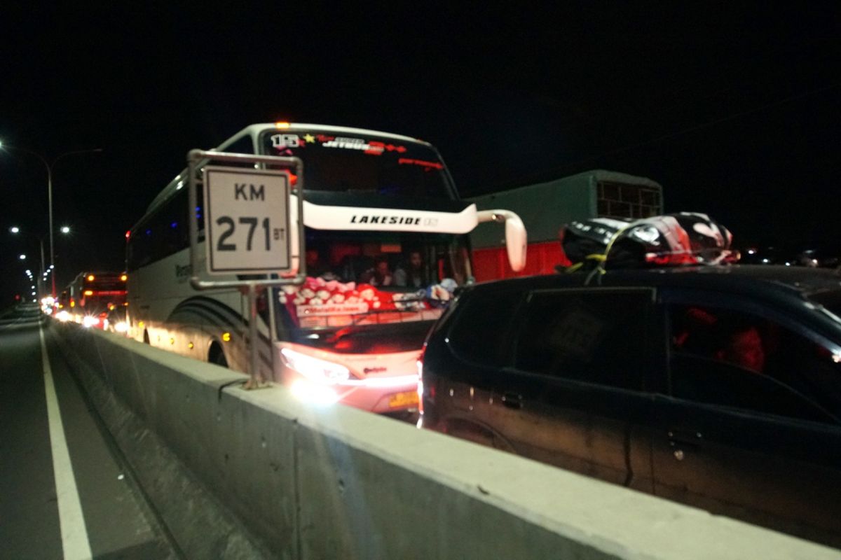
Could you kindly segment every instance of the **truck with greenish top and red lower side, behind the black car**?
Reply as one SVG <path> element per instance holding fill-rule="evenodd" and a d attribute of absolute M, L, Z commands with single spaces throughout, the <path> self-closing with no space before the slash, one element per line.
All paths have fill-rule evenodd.
<path fill-rule="evenodd" d="M 479 210 L 516 212 L 528 232 L 526 268 L 514 272 L 505 256 L 499 228 L 480 225 L 470 234 L 476 280 L 551 274 L 569 264 L 559 243 L 565 223 L 591 217 L 650 217 L 662 214 L 663 187 L 646 177 L 590 170 L 554 181 L 468 198 Z"/>

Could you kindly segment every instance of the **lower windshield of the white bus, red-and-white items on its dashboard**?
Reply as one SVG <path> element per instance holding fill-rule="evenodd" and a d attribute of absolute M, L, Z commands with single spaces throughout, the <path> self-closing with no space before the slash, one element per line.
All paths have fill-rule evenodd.
<path fill-rule="evenodd" d="M 278 338 L 338 353 L 421 348 L 472 280 L 465 235 L 308 228 L 306 253 L 304 285 L 274 290 Z"/>

